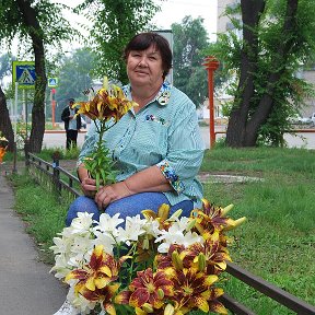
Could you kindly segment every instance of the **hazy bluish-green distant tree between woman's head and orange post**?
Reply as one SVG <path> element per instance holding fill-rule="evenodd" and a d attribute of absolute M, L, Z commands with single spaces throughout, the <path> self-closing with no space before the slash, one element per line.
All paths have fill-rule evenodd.
<path fill-rule="evenodd" d="M 173 79 L 174 85 L 186 93 L 198 107 L 207 97 L 207 71 L 202 67 L 205 52 L 209 46 L 203 19 L 185 16 L 182 24 L 173 23 L 174 38 Z"/>

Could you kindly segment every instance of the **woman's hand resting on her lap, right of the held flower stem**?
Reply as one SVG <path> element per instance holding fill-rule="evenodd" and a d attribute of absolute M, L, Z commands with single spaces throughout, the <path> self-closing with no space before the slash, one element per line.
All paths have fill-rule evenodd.
<path fill-rule="evenodd" d="M 98 209 L 104 209 L 113 201 L 128 197 L 130 195 L 132 194 L 128 189 L 125 182 L 119 182 L 113 185 L 101 187 L 96 192 L 94 200 L 97 203 Z"/>

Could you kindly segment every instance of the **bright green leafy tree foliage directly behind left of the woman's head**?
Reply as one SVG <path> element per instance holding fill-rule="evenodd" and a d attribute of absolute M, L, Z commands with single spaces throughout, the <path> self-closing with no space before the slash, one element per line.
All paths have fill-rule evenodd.
<path fill-rule="evenodd" d="M 97 56 L 95 73 L 100 78 L 127 83 L 122 49 L 138 32 L 149 30 L 158 10 L 150 0 L 85 0 L 77 8 L 94 22 L 91 46 Z"/>

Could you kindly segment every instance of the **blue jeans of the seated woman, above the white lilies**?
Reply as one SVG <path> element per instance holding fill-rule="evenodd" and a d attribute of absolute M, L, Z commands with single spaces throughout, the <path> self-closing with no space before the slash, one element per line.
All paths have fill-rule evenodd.
<path fill-rule="evenodd" d="M 120 213 L 119 218 L 126 219 L 126 217 L 135 217 L 141 214 L 142 210 L 153 210 L 158 212 L 162 203 L 170 205 L 167 198 L 162 192 L 140 192 L 126 198 L 116 200 L 107 206 L 105 212 L 113 217 L 116 213 Z M 171 206 L 171 205 L 170 205 Z M 189 217 L 190 211 L 194 209 L 194 203 L 190 200 L 178 202 L 171 207 L 170 215 L 176 210 L 182 209 L 182 217 Z M 93 220 L 100 220 L 100 210 L 94 199 L 85 196 L 78 197 L 69 207 L 66 225 L 70 226 L 72 220 L 77 218 L 78 212 L 93 213 Z"/>

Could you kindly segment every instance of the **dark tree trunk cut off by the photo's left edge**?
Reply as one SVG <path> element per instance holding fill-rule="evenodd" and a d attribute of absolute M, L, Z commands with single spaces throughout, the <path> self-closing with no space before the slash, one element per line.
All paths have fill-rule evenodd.
<path fill-rule="evenodd" d="M 9 140 L 9 151 L 14 151 L 14 132 L 10 120 L 5 95 L 0 86 L 0 131 Z"/>

